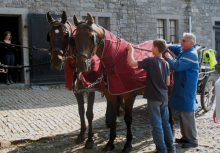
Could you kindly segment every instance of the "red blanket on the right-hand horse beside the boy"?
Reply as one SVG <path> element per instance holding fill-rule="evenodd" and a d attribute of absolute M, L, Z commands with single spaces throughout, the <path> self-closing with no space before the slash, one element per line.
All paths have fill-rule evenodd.
<path fill-rule="evenodd" d="M 145 87 L 146 70 L 129 66 L 127 50 L 128 42 L 114 36 L 105 30 L 105 48 L 102 54 L 100 66 L 102 73 L 108 74 L 108 90 L 111 94 L 123 94 Z M 132 45 L 138 48 L 152 50 L 153 41 L 145 41 L 139 45 Z M 152 52 L 134 49 L 135 60 L 142 60 L 153 57 Z"/>

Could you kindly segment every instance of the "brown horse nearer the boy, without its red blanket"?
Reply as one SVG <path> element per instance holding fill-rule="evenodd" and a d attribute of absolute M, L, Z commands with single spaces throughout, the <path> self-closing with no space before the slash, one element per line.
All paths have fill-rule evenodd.
<path fill-rule="evenodd" d="M 103 29 L 94 24 L 94 19 L 91 14 L 87 14 L 87 23 L 81 24 L 76 16 L 74 15 L 73 21 L 75 26 L 77 26 L 76 33 L 74 36 L 76 50 L 77 50 L 77 68 L 80 71 L 87 70 L 87 61 L 93 55 L 97 55 L 102 61 L 102 54 L 104 50 L 104 38 L 105 34 Z M 122 57 L 125 58 L 125 57 Z M 118 59 L 120 60 L 120 59 Z M 123 152 L 130 152 L 132 149 L 132 109 L 135 97 L 137 94 L 144 93 L 144 87 L 138 90 L 120 94 L 119 96 L 124 99 L 124 120 L 127 125 L 127 142 L 124 145 Z M 113 95 L 109 92 L 109 88 L 106 87 L 104 94 L 107 99 L 107 105 L 110 109 L 110 139 L 103 151 L 111 151 L 114 149 L 114 140 L 116 137 L 116 114 L 117 114 L 117 97 L 118 95 Z"/>

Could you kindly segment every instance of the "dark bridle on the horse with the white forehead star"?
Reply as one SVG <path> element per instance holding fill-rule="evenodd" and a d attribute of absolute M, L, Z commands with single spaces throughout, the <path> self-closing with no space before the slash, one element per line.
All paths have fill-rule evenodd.
<path fill-rule="evenodd" d="M 57 26 L 63 26 L 64 28 L 67 29 L 68 39 L 69 39 L 70 36 L 71 36 L 72 27 L 71 27 L 69 21 L 67 21 L 67 24 L 69 24 L 71 31 L 69 31 L 69 28 L 68 28 L 65 24 L 63 24 L 63 23 L 61 23 L 61 22 L 57 22 L 57 21 L 52 22 L 52 23 L 50 24 L 50 31 L 47 33 L 47 37 L 49 37 L 49 33 L 51 32 L 51 30 L 52 30 L 52 28 L 53 28 L 54 26 L 55 26 L 55 27 L 57 27 Z M 50 40 L 48 40 L 48 41 L 50 41 Z M 67 46 L 68 46 L 68 44 L 67 44 Z M 52 49 L 51 49 L 51 53 L 53 53 L 53 52 L 60 52 L 60 53 L 62 54 L 62 57 L 64 57 L 64 56 L 66 55 L 67 46 L 65 47 L 64 52 L 63 52 L 60 48 L 55 47 L 55 48 L 52 48 Z"/>

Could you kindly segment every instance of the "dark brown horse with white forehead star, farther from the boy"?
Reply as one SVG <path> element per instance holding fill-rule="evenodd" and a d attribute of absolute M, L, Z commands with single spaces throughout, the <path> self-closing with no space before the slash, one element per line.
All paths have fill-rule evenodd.
<path fill-rule="evenodd" d="M 67 14 L 65 11 L 62 13 L 62 18 L 61 19 L 54 19 L 49 12 L 46 14 L 46 18 L 48 23 L 50 24 L 50 31 L 47 34 L 47 40 L 50 43 L 50 48 L 51 48 L 51 65 L 54 68 L 57 68 L 59 70 L 64 68 L 65 61 L 66 61 L 66 56 L 69 56 L 69 63 L 67 62 L 65 65 L 65 68 L 67 66 L 73 67 L 73 70 L 75 71 L 75 65 L 72 63 L 72 53 L 73 48 L 71 48 L 68 45 L 68 39 L 72 35 L 73 31 L 75 30 L 75 27 L 72 26 L 71 23 L 67 21 Z M 67 74 L 74 73 L 65 71 L 65 76 Z M 67 78 L 66 78 L 67 79 Z M 69 82 L 70 86 L 72 85 L 72 82 L 75 82 L 77 79 L 77 73 L 74 73 L 73 75 L 73 81 Z M 68 83 L 68 82 L 66 82 Z M 78 84 L 78 88 L 83 89 L 84 87 L 82 86 L 82 82 Z M 94 104 L 94 99 L 95 99 L 95 90 L 98 90 L 97 86 L 95 88 L 92 88 L 88 92 L 87 100 L 88 100 L 88 105 L 87 105 L 87 111 L 86 111 L 86 117 L 88 119 L 89 123 L 89 131 L 88 131 L 88 139 L 86 141 L 85 147 L 88 149 L 93 148 L 94 142 L 93 142 L 93 130 L 92 130 L 92 120 L 93 120 L 93 104 Z M 80 115 L 80 121 L 81 121 L 81 131 L 80 134 L 78 135 L 78 138 L 76 140 L 77 143 L 81 143 L 84 141 L 84 133 L 86 131 L 86 124 L 85 124 L 85 108 L 84 108 L 84 96 L 82 93 L 77 93 L 74 92 L 77 102 L 78 102 L 78 111 Z"/>

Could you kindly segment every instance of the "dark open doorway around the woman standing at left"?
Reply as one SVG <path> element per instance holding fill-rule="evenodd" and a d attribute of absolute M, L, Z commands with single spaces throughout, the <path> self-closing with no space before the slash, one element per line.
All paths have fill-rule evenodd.
<path fill-rule="evenodd" d="M 19 45 L 19 17 L 18 16 L 0 16 L 1 24 L 0 24 L 0 41 L 4 40 L 4 32 L 10 31 L 12 34 L 12 43 Z M 1 44 L 0 44 L 1 45 Z M 22 64 L 22 55 L 21 49 L 17 47 L 17 51 L 15 52 L 15 65 Z M 2 63 L 2 57 L 0 57 L 0 62 Z M 19 71 L 19 73 L 17 72 Z M 13 70 L 13 80 L 17 83 L 21 82 L 21 73 L 20 70 Z M 0 73 L 0 84 L 5 83 L 5 74 Z"/>

